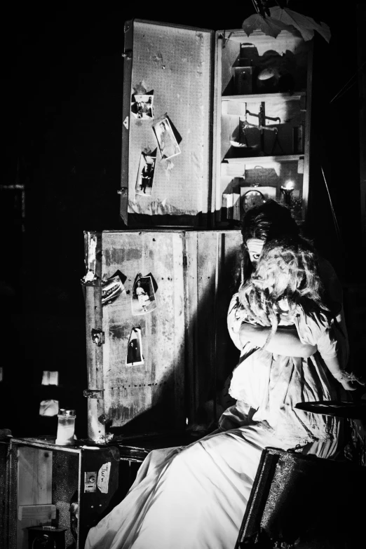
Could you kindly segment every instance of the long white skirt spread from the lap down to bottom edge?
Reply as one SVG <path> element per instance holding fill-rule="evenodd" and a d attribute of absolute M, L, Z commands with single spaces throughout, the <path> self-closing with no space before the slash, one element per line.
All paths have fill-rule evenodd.
<path fill-rule="evenodd" d="M 288 448 L 257 423 L 154 450 L 126 498 L 90 530 L 85 548 L 233 549 L 268 446 Z M 322 454 L 324 448 L 316 453 L 330 455 L 335 445 Z"/>

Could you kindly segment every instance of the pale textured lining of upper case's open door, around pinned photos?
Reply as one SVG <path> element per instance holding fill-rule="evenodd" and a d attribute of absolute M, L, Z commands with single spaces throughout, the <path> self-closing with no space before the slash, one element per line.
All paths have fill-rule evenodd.
<path fill-rule="evenodd" d="M 128 127 L 123 126 L 128 180 L 122 181 L 122 187 L 128 187 L 128 212 L 190 216 L 208 212 L 212 31 L 134 20 L 128 32 L 133 32 L 132 57 L 125 59 L 125 69 L 131 63 L 130 98 L 134 88 L 154 90 L 154 120 L 134 118 L 130 111 Z M 165 113 L 182 138 L 181 153 L 162 160 L 157 149 L 153 193 L 140 196 L 135 194 L 140 156 L 156 149 L 152 126 Z M 122 175 L 127 174 L 122 171 Z"/>

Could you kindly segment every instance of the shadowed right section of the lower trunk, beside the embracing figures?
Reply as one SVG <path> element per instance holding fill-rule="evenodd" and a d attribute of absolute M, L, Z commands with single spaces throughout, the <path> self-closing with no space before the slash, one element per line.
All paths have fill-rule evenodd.
<path fill-rule="evenodd" d="M 196 291 L 191 292 L 196 306 L 191 305 L 189 322 L 195 326 L 191 383 L 196 389 L 194 413 L 198 419 L 202 407 L 213 398 L 238 360 L 238 351 L 226 327 L 226 314 L 236 291 L 233 278 L 240 266 L 237 258 L 241 242 L 240 231 L 187 233 L 187 250 L 193 254 L 196 249 Z M 194 278 L 194 273 L 191 276 Z M 201 417 L 204 421 L 205 416 Z"/>

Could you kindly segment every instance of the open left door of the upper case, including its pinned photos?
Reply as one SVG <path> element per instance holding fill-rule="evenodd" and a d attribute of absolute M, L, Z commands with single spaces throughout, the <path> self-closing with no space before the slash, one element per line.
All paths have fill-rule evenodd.
<path fill-rule="evenodd" d="M 125 25 L 121 218 L 128 226 L 207 227 L 214 34 Z"/>

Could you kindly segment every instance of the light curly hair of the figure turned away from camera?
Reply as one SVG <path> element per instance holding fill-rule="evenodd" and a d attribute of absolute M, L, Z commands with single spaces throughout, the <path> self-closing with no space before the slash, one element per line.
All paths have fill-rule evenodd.
<path fill-rule="evenodd" d="M 323 309 L 323 285 L 312 245 L 300 236 L 275 238 L 264 245 L 255 271 L 239 289 L 243 317 L 271 326 L 266 344 L 276 332 L 285 300 L 290 314 L 297 305 Z"/>

